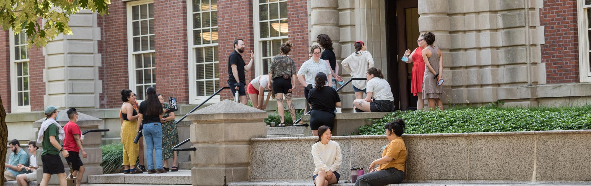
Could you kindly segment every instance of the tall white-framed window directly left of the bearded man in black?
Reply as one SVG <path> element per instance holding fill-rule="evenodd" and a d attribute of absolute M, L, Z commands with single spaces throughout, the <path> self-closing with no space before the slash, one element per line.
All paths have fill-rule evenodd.
<path fill-rule="evenodd" d="M 203 100 L 219 88 L 217 1 L 189 0 L 191 100 Z"/>

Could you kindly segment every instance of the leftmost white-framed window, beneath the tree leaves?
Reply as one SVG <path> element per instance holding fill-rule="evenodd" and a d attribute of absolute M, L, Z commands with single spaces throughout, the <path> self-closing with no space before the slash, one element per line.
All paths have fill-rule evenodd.
<path fill-rule="evenodd" d="M 30 111 L 29 51 L 27 49 L 27 34 L 25 34 L 25 31 L 15 34 L 10 39 L 10 44 L 12 111 L 13 113 Z"/>

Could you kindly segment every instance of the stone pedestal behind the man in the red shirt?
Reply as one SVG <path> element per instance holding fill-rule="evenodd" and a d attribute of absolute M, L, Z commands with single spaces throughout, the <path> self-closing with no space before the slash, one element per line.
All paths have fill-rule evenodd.
<path fill-rule="evenodd" d="M 60 125 L 63 127 L 66 125 L 66 123 L 68 123 L 69 119 L 66 113 L 67 110 L 62 110 L 60 111 L 57 115 L 58 115 L 58 119 L 57 120 Z M 80 127 L 80 130 L 82 130 L 82 132 L 84 132 L 85 130 L 91 130 L 91 129 L 99 129 L 99 127 L 101 127 L 103 125 L 103 120 L 96 118 L 96 117 L 92 117 L 83 113 L 79 113 L 79 120 L 78 122 L 76 122 L 76 124 L 78 124 L 78 126 Z M 41 127 L 41 123 L 43 123 L 43 121 L 45 120 L 45 118 L 42 118 L 41 120 L 37 120 L 33 123 L 34 127 L 40 128 Z M 84 143 L 82 144 L 82 147 L 84 148 L 84 150 L 86 151 L 86 153 L 88 154 L 88 156 L 86 158 L 82 157 L 82 153 L 80 154 L 80 159 L 82 159 L 82 163 L 84 163 L 84 167 L 85 167 L 85 172 L 84 172 L 84 177 L 82 178 L 82 183 L 86 183 L 88 182 L 88 176 L 89 175 L 101 175 L 103 174 L 103 168 L 102 166 L 100 166 L 100 162 L 103 161 L 103 155 L 102 155 L 102 149 L 100 149 L 99 145 L 101 144 L 101 136 L 102 133 L 100 132 L 91 132 L 91 133 L 87 133 L 84 135 Z M 37 135 L 35 135 L 35 140 L 37 139 Z M 60 140 L 60 144 L 63 144 L 63 140 Z M 37 182 L 41 183 L 41 179 L 43 178 L 43 162 L 41 162 L 41 144 L 37 144 L 37 146 L 39 147 L 39 150 L 37 150 L 37 163 L 39 165 L 39 174 L 37 174 Z M 60 154 L 61 156 L 61 154 Z M 64 168 L 66 168 L 66 175 L 69 175 L 69 171 L 70 171 L 70 166 L 67 165 L 66 163 L 66 159 L 63 158 L 63 156 L 61 156 L 61 162 L 64 163 Z M 59 179 L 57 178 L 57 175 L 53 175 L 49 181 L 49 185 L 60 185 Z"/>

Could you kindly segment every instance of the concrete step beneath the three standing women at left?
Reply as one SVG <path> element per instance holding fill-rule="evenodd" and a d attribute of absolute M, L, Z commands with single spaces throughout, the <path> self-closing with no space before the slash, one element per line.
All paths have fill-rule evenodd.
<path fill-rule="evenodd" d="M 191 184 L 191 170 L 179 170 L 165 174 L 104 174 L 88 177 L 88 184 Z"/>

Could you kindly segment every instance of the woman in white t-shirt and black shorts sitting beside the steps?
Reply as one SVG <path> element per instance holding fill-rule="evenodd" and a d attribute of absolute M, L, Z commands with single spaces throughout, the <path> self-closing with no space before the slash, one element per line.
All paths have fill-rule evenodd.
<path fill-rule="evenodd" d="M 369 68 L 365 73 L 368 79 L 366 85 L 367 97 L 365 100 L 359 99 L 353 101 L 358 113 L 375 113 L 394 111 L 394 95 L 390 89 L 390 84 L 384 79 L 382 70 Z"/>

